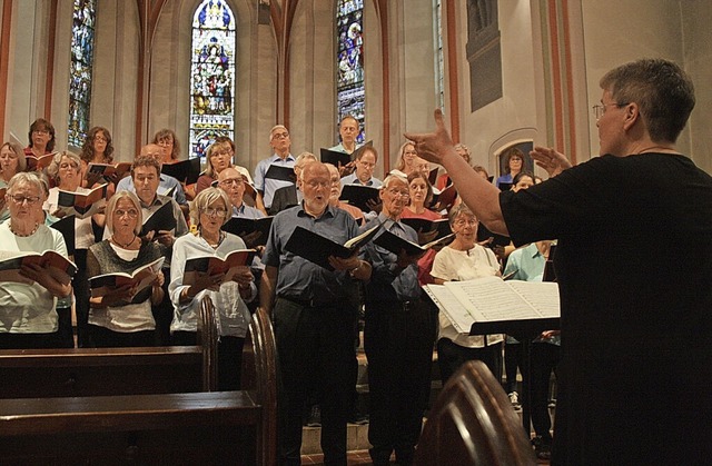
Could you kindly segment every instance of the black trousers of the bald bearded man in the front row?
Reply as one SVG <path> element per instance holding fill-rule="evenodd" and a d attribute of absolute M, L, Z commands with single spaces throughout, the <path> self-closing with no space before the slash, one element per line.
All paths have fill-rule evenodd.
<path fill-rule="evenodd" d="M 346 465 L 346 423 L 353 391 L 354 320 L 346 303 L 303 306 L 277 298 L 280 464 L 300 464 L 301 416 L 309 395 L 322 408 L 324 464 Z"/>

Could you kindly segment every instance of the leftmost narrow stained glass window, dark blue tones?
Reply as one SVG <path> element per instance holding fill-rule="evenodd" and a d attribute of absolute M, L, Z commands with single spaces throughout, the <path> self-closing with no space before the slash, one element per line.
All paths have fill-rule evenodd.
<path fill-rule="evenodd" d="M 81 147 L 89 130 L 96 0 L 75 0 L 69 73 L 69 145 Z"/>

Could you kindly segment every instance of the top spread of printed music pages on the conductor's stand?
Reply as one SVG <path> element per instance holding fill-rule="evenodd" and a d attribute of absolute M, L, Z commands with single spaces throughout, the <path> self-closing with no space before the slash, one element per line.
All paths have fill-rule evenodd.
<path fill-rule="evenodd" d="M 552 282 L 504 281 L 483 277 L 469 281 L 446 281 L 476 321 L 523 320 L 558 317 L 558 286 Z"/>

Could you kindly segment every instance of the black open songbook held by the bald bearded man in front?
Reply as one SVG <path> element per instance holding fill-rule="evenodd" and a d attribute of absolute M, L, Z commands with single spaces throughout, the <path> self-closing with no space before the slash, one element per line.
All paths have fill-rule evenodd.
<path fill-rule="evenodd" d="M 329 256 L 344 259 L 352 257 L 358 248 L 373 239 L 379 228 L 380 224 L 339 245 L 329 238 L 297 226 L 285 245 L 285 249 L 327 270 L 334 270 L 334 267 L 329 265 Z"/>

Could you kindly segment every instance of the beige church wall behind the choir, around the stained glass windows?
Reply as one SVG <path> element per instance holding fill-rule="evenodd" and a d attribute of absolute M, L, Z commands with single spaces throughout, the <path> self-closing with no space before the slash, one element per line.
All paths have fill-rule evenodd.
<path fill-rule="evenodd" d="M 7 0 L 2 0 L 4 2 Z M 268 132 L 277 121 L 277 39 L 271 24 L 258 24 L 251 0 L 227 0 L 237 18 L 236 145 L 237 162 L 254 169 L 269 151 Z M 71 38 L 71 0 L 58 1 L 55 61 L 48 67 L 49 2 L 14 1 L 10 38 L 3 139 L 27 145 L 29 123 L 49 111 L 57 127 L 58 148 L 66 147 L 68 118 L 69 41 Z M 198 0 L 167 1 L 156 31 L 144 47 L 137 2 L 101 0 L 97 27 L 91 125 L 106 126 L 115 138 L 116 157 L 130 160 L 140 143 L 160 128 L 174 128 L 187 157 L 190 21 Z M 300 0 L 295 13 L 290 42 L 289 126 L 294 136 L 293 152 L 318 152 L 319 147 L 336 143 L 335 40 L 333 2 Z M 455 0 L 457 83 L 459 89 L 461 141 L 471 147 L 473 163 L 484 165 L 495 173 L 494 153 L 517 138 L 554 145 L 554 109 L 547 95 L 545 50 L 547 19 L 542 0 L 498 2 L 498 29 L 502 44 L 503 97 L 472 112 L 469 76 L 465 52 L 467 42 L 466 0 Z M 574 113 L 571 131 L 577 140 L 572 146 L 577 160 L 597 153 L 599 141 L 591 106 L 601 97 L 600 77 L 624 61 L 641 57 L 663 57 L 684 63 L 696 83 L 698 106 L 689 128 L 680 138 L 680 149 L 695 162 L 712 170 L 712 75 L 709 44 L 712 10 L 705 0 L 601 0 L 568 1 L 568 43 L 573 57 L 571 70 Z M 387 2 L 389 60 L 384 69 L 379 16 L 375 2 L 366 1 L 364 11 L 364 49 L 366 72 L 366 131 L 374 139 L 382 158 L 395 162 L 396 150 L 406 130 L 433 126 L 432 110 L 437 105 L 435 89 L 434 18 L 431 0 Z M 542 18 L 544 17 L 544 18 Z M 449 26 L 446 26 L 449 27 Z M 7 33 L 7 31 L 2 31 Z M 28 40 L 30 39 L 30 40 Z M 144 105 L 144 127 L 136 135 L 138 62 L 146 50 L 146 77 L 149 85 Z M 446 57 L 448 51 L 446 49 Z M 51 69 L 48 69 L 51 68 Z M 446 67 L 447 70 L 447 67 Z M 46 79 L 52 73 L 52 88 Z M 385 89 L 384 76 L 388 77 Z M 447 83 L 447 77 L 445 82 Z M 451 90 L 446 88 L 447 102 Z M 46 108 L 50 95 L 51 109 Z M 388 96 L 388 101 L 384 99 Z M 388 115 L 384 115 L 388 111 Z M 385 118 L 389 126 L 385 129 Z M 388 147 L 384 147 L 384 143 Z M 376 173 L 383 176 L 383 163 Z"/>

